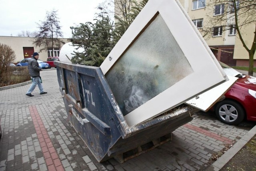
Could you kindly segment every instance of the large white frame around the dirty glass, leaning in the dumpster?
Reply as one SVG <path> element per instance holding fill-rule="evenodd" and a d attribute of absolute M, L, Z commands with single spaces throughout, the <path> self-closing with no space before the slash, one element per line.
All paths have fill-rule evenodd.
<path fill-rule="evenodd" d="M 178 0 L 152 0 L 146 4 L 101 64 L 100 68 L 104 75 L 111 70 L 158 13 L 180 46 L 193 72 L 125 115 L 124 120 L 129 126 L 152 119 L 228 80 L 216 57 L 200 32 L 193 26 L 194 23 Z"/>

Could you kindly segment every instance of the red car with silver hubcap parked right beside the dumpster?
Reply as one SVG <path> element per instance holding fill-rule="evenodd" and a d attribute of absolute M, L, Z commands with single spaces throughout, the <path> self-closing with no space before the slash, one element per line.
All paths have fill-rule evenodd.
<path fill-rule="evenodd" d="M 230 125 L 236 125 L 245 118 L 256 121 L 256 78 L 243 75 L 222 62 L 220 65 L 228 76 L 236 76 L 238 80 L 226 92 L 226 98 L 215 105 L 217 117 Z"/>

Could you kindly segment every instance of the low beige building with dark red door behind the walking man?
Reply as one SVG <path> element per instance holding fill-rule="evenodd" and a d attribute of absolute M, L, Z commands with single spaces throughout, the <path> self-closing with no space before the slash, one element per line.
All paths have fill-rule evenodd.
<path fill-rule="evenodd" d="M 30 37 L 15 37 L 15 36 L 0 36 L 0 43 L 6 44 L 14 50 L 16 59 L 14 63 L 18 63 L 25 58 L 30 58 L 34 52 L 39 52 L 40 47 L 34 46 L 33 42 L 34 38 Z M 66 38 L 61 38 L 61 40 L 65 43 L 70 42 Z M 62 45 L 63 46 L 63 45 Z M 60 49 L 54 49 L 54 52 L 50 50 L 50 56 L 59 56 Z M 42 51 L 39 52 L 39 59 L 46 62 L 48 58 L 48 52 Z"/>

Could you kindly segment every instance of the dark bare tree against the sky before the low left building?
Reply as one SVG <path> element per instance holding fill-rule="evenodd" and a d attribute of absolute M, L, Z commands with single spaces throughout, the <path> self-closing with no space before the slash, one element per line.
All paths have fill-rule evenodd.
<path fill-rule="evenodd" d="M 59 39 L 62 38 L 63 35 L 56 10 L 47 11 L 45 20 L 40 21 L 38 28 L 39 31 L 35 36 L 33 44 L 42 47 L 40 52 L 46 50 L 48 54 L 50 54 L 50 50 L 53 52 L 54 47 L 60 48 L 60 46 L 65 43 Z"/>

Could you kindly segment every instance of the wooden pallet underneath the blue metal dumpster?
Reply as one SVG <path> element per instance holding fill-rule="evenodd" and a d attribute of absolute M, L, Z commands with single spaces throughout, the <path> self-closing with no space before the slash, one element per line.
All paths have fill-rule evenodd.
<path fill-rule="evenodd" d="M 160 138 L 153 139 L 152 141 L 140 145 L 132 150 L 126 151 L 120 155 L 116 155 L 114 159 L 116 159 L 116 161 L 118 161 L 119 163 L 124 163 L 125 161 L 137 157 L 143 153 L 146 153 L 147 151 L 150 151 L 168 141 L 172 141 L 172 133 L 168 133 Z"/>

